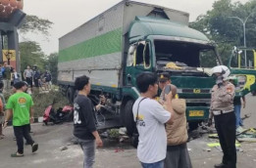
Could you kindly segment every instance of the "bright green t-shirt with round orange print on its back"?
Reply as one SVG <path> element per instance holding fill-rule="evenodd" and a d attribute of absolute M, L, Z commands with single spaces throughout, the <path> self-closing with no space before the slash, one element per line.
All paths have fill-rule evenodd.
<path fill-rule="evenodd" d="M 7 109 L 13 109 L 13 126 L 29 124 L 29 109 L 33 105 L 30 95 L 19 92 L 12 95 L 6 105 Z"/>

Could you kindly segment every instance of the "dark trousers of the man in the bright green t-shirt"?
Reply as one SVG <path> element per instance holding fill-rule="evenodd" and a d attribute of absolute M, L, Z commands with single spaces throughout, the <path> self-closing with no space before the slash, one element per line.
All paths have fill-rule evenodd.
<path fill-rule="evenodd" d="M 29 134 L 29 124 L 23 126 L 14 126 L 14 133 L 17 141 L 18 152 L 24 153 L 24 138 L 28 145 L 33 145 L 34 141 L 32 140 Z"/>

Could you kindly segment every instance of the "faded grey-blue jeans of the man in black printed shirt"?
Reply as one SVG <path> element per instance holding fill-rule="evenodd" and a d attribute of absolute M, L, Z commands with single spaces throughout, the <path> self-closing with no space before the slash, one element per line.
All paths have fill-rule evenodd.
<path fill-rule="evenodd" d="M 83 151 L 83 168 L 92 168 L 95 162 L 95 140 L 81 140 L 77 139 Z"/>

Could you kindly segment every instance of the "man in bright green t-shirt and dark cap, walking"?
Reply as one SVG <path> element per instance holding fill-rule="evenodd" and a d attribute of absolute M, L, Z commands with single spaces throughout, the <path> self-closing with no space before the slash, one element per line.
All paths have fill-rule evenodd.
<path fill-rule="evenodd" d="M 4 127 L 13 116 L 13 126 L 17 140 L 18 151 L 11 154 L 12 157 L 24 156 L 24 138 L 26 143 L 32 147 L 32 152 L 36 151 L 38 145 L 34 143 L 29 135 L 29 124 L 33 122 L 33 101 L 30 95 L 24 93 L 26 83 L 21 81 L 14 85 L 16 93 L 12 95 L 6 105 L 7 113 Z"/>

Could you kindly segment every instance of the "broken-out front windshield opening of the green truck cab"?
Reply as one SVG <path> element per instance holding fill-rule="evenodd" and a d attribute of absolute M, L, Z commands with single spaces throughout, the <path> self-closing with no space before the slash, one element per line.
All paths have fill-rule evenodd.
<path fill-rule="evenodd" d="M 176 66 L 213 67 L 218 64 L 214 47 L 198 43 L 155 40 L 158 65 L 173 63 Z"/>

